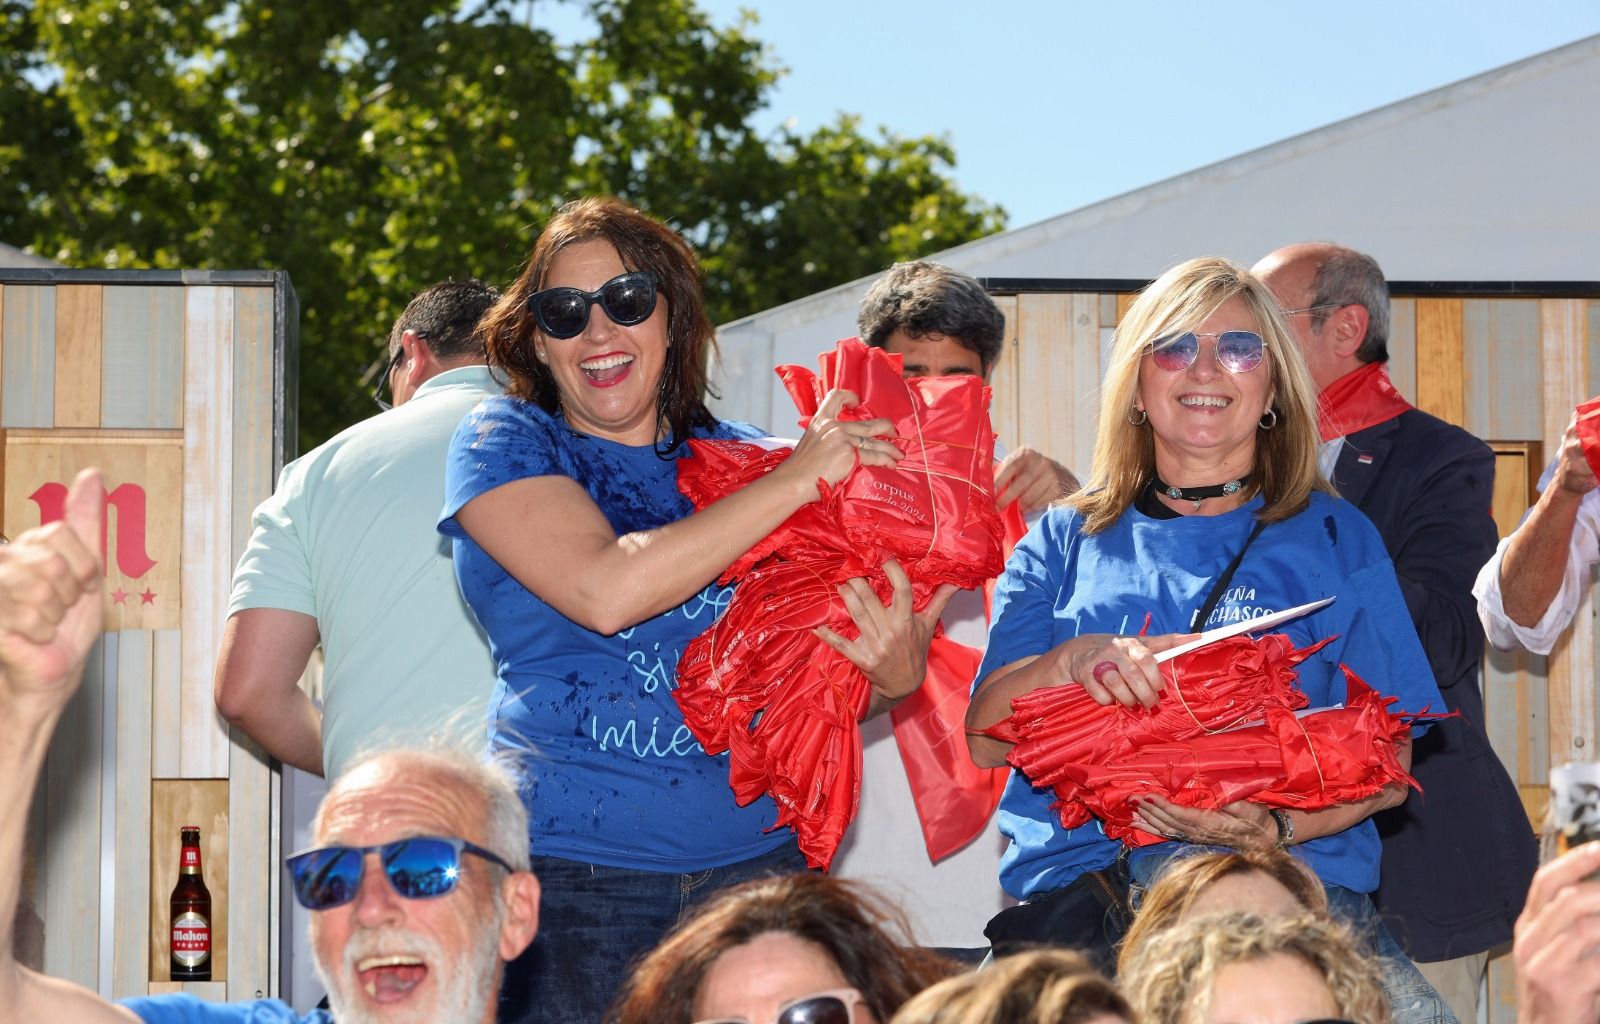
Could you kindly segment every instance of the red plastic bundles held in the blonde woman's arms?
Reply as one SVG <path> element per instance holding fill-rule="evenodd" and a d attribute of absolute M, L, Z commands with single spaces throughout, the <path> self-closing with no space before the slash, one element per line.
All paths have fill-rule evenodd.
<path fill-rule="evenodd" d="M 1006 760 L 1054 790 L 1064 829 L 1098 818 L 1130 846 L 1165 838 L 1133 827 L 1134 797 L 1318 810 L 1390 782 L 1414 787 L 1397 746 L 1411 722 L 1437 715 L 1389 714 L 1395 698 L 1346 666 L 1346 704 L 1298 714 L 1307 699 L 1293 666 L 1330 640 L 1294 650 L 1282 634 L 1230 637 L 1179 654 L 1162 666 L 1168 686 L 1154 709 L 1099 706 L 1080 686 L 1035 690 L 987 733 L 1014 742 Z"/>

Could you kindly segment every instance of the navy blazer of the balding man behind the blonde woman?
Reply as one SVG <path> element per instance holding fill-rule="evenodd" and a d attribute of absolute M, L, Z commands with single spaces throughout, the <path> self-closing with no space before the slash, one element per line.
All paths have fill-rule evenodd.
<path fill-rule="evenodd" d="M 1438 690 L 1461 712 L 1413 747 L 1422 792 L 1374 816 L 1384 850 L 1373 899 L 1411 958 L 1450 960 L 1510 941 L 1539 859 L 1517 786 L 1483 731 L 1472 581 L 1498 541 L 1494 453 L 1419 410 L 1346 442 L 1334 485 L 1382 534 Z"/>

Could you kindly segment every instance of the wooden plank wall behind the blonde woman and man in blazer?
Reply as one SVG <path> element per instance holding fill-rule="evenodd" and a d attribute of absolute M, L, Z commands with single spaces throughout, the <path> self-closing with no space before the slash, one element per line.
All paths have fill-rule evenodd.
<path fill-rule="evenodd" d="M 998 296 L 1008 339 L 992 384 L 1003 443 L 1034 445 L 1088 475 L 1104 354 L 1131 299 Z M 1395 296 L 1390 315 L 1395 387 L 1496 448 L 1504 536 L 1531 504 L 1544 453 L 1557 451 L 1573 406 L 1600 394 L 1600 299 Z M 1485 659 L 1485 728 L 1533 822 L 1542 821 L 1550 765 L 1600 760 L 1595 582 L 1549 658 Z M 1515 1021 L 1509 957 L 1491 962 L 1490 1021 Z"/>

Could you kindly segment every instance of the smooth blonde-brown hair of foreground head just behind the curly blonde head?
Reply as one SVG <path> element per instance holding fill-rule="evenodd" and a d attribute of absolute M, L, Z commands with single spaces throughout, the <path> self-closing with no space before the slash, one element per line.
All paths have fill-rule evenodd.
<path fill-rule="evenodd" d="M 1189 915 L 1195 899 L 1230 875 L 1272 878 L 1307 912 L 1328 914 L 1328 891 L 1309 867 L 1282 850 L 1205 850 L 1173 856 L 1139 901 L 1133 925 L 1117 954 L 1117 973 L 1128 970 L 1134 950 Z"/>

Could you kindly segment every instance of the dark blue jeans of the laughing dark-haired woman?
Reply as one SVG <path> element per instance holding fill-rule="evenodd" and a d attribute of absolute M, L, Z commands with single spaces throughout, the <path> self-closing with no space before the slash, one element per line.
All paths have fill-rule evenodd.
<path fill-rule="evenodd" d="M 686 875 L 533 858 L 539 934 L 506 965 L 499 1024 L 600 1021 L 629 968 L 730 885 L 803 872 L 794 840 L 778 850 Z"/>

